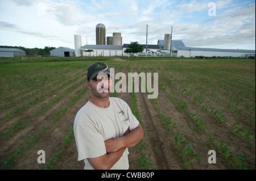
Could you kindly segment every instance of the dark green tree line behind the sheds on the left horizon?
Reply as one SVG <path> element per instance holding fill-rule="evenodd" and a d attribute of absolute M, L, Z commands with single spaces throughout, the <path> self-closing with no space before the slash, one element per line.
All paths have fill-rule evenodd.
<path fill-rule="evenodd" d="M 26 55 L 40 55 L 40 56 L 48 56 L 50 54 L 50 50 L 55 49 L 55 47 L 44 47 L 44 48 L 25 48 L 25 47 L 13 47 L 13 46 L 2 46 L 0 48 L 19 48 L 26 52 Z"/>

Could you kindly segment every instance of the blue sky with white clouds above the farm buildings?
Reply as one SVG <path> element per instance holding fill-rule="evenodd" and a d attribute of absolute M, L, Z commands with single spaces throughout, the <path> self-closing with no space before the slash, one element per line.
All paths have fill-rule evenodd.
<path fill-rule="evenodd" d="M 96 44 L 96 26 L 122 43 L 156 45 L 165 34 L 187 47 L 255 50 L 255 1 L 0 0 L 0 45 L 75 49 Z"/>

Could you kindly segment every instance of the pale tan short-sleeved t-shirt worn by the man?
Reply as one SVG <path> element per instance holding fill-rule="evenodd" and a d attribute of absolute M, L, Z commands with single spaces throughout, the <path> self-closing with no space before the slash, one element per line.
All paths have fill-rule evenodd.
<path fill-rule="evenodd" d="M 126 102 L 119 98 L 109 98 L 109 107 L 101 108 L 88 101 L 75 117 L 74 134 L 78 151 L 78 161 L 84 159 L 84 169 L 93 169 L 86 158 L 96 158 L 106 154 L 105 140 L 123 136 L 129 128 L 132 131 L 139 124 Z M 111 169 L 129 169 L 129 151 Z"/>

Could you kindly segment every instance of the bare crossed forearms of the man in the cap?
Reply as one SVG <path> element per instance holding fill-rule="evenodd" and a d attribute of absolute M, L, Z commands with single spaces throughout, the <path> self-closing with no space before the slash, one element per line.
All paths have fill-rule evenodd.
<path fill-rule="evenodd" d="M 94 169 L 108 170 L 121 158 L 123 151 L 125 151 L 126 148 L 137 145 L 142 138 L 143 129 L 141 124 L 139 124 L 138 127 L 131 132 L 127 129 L 122 137 L 106 140 L 106 154 L 100 157 L 87 159 Z"/>

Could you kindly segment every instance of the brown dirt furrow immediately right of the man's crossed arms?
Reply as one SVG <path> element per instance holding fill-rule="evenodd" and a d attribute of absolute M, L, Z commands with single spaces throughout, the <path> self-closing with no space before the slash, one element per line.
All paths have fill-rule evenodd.
<path fill-rule="evenodd" d="M 170 142 L 170 138 L 159 119 L 155 107 L 147 94 L 139 93 L 138 102 L 143 115 L 145 137 L 152 155 L 156 159 L 158 169 L 180 169 L 177 153 Z"/>

